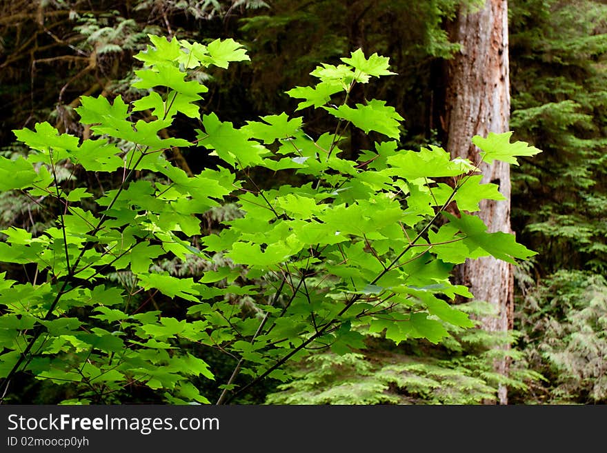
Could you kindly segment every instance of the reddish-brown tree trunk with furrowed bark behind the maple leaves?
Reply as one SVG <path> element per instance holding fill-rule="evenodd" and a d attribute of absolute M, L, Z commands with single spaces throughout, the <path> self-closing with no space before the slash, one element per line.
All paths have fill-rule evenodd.
<path fill-rule="evenodd" d="M 479 161 L 474 135 L 506 132 L 510 117 L 508 80 L 507 0 L 487 0 L 484 8 L 466 14 L 460 10 L 450 24 L 451 40 L 461 44 L 461 52 L 448 61 L 446 88 L 447 149 L 452 157 Z M 510 166 L 495 162 L 481 165 L 483 182 L 499 185 L 505 201 L 484 201 L 479 217 L 490 232 L 510 230 Z M 513 323 L 513 269 L 492 257 L 468 260 L 456 270 L 458 283 L 468 285 L 475 299 L 497 307 L 497 318 L 481 319 L 486 330 L 506 332 Z M 508 348 L 505 345 L 504 348 Z M 508 362 L 496 363 L 499 372 L 508 372 Z M 498 392 L 499 403 L 507 404 L 506 387 Z"/>

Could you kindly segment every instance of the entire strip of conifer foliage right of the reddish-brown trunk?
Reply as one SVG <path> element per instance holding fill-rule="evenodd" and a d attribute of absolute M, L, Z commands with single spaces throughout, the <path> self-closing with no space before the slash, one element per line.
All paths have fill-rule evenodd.
<path fill-rule="evenodd" d="M 511 124 L 544 150 L 513 169 L 517 238 L 541 256 L 519 269 L 518 346 L 546 376 L 515 401 L 605 401 L 606 20 L 600 1 L 510 2 Z"/>

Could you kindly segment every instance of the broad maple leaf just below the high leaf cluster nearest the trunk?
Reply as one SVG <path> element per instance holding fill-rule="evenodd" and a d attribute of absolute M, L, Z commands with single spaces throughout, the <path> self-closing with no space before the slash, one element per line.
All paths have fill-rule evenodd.
<path fill-rule="evenodd" d="M 399 138 L 399 121 L 404 121 L 395 108 L 386 105 L 386 101 L 377 99 L 369 101 L 367 105 L 357 104 L 356 108 L 340 105 L 338 108 L 325 107 L 324 109 L 337 118 L 350 121 L 366 133 L 375 130 L 392 139 Z"/>

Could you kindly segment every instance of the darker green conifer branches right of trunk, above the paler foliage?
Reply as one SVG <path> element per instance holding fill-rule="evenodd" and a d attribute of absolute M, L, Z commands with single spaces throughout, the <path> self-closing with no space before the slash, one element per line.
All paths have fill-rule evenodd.
<path fill-rule="evenodd" d="M 511 18 L 511 123 L 544 150 L 513 174 L 519 237 L 541 252 L 542 275 L 604 274 L 607 6 L 514 1 Z"/>

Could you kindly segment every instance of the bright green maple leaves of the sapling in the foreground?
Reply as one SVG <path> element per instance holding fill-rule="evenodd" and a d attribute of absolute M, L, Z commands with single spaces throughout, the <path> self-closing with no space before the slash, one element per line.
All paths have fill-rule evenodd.
<path fill-rule="evenodd" d="M 16 131 L 30 148 L 26 159 L 0 161 L 1 171 L 19 175 L 3 190 L 52 197 L 57 205 L 46 230 L 2 232 L 0 261 L 35 266 L 36 274 L 12 281 L 5 273 L 0 281 L 3 388 L 26 372 L 70 385 L 84 403 L 115 401 L 127 386 L 147 387 L 168 403 L 208 403 L 197 383 L 215 372 L 206 357 L 183 347 L 189 345 L 237 358 L 237 372 L 250 382 L 217 383 L 225 390 L 219 402 L 229 401 L 266 377 L 288 380 L 282 365 L 310 350 L 364 348 L 366 334 L 385 331 L 395 343 L 446 341 L 453 328 L 473 326 L 450 303 L 471 296 L 450 283 L 454 262 L 490 254 L 516 263 L 533 254 L 514 236 L 486 232 L 478 217 L 443 215 L 450 203 L 477 206 L 478 197 L 458 192 L 479 182 L 480 162 L 451 160 L 436 147 L 398 150 L 395 141 L 350 161 L 340 157 L 339 134 L 310 137 L 302 119 L 288 114 L 240 127 L 215 113 L 200 117 L 196 102 L 207 90 L 192 72 L 246 60 L 243 49 L 232 40 L 203 46 L 150 39 L 153 46 L 137 55 L 144 67 L 134 83 L 148 94 L 132 103 L 84 97 L 77 112 L 90 139 L 42 123 Z M 377 55 L 357 51 L 343 61 L 315 75 L 339 83 L 346 95 L 355 83 L 389 74 L 388 60 Z M 155 119 L 137 120 L 147 108 Z M 328 112 L 339 124 L 399 137 L 401 117 L 384 101 Z M 161 136 L 178 114 L 201 120 L 197 145 L 218 157 L 216 170 L 188 176 L 166 159 L 166 150 L 193 144 Z M 491 159 L 520 154 L 508 138 L 492 137 Z M 425 163 L 411 169 L 417 161 Z M 69 190 L 57 177 L 67 163 L 115 172 L 119 183 L 100 195 Z M 258 185 L 252 168 L 295 174 L 299 182 Z M 452 187 L 432 179 L 445 176 Z M 499 198 L 491 186 L 487 193 Z M 238 215 L 203 235 L 204 216 L 228 203 Z M 192 259 L 206 267 L 201 278 L 157 264 Z M 122 288 L 113 278 L 124 279 Z M 160 295 L 176 312 L 154 310 Z"/>

